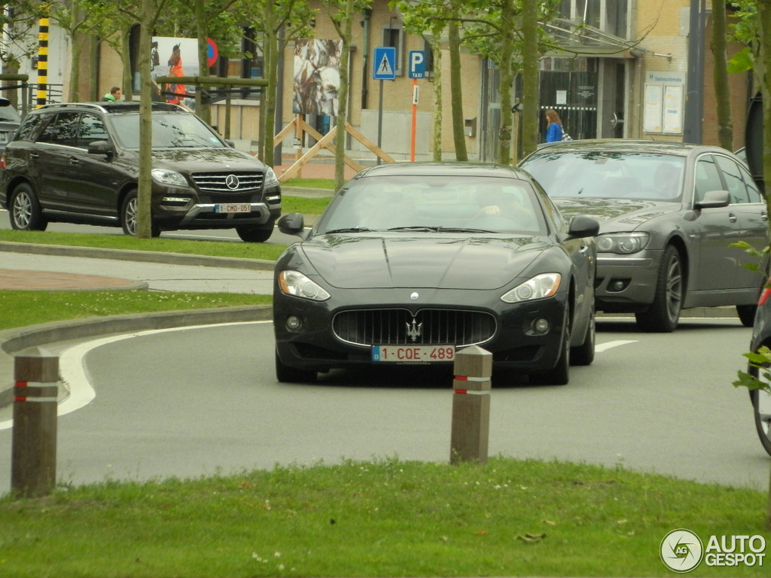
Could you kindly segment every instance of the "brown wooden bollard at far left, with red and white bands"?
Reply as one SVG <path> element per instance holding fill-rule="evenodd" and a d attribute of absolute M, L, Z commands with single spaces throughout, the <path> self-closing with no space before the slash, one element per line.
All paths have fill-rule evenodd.
<path fill-rule="evenodd" d="M 11 490 L 46 496 L 56 486 L 56 398 L 59 358 L 37 350 L 14 358 Z"/>

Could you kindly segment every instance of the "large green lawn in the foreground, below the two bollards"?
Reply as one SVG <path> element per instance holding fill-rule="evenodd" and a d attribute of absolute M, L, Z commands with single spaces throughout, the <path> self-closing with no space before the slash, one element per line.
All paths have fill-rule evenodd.
<path fill-rule="evenodd" d="M 0 575 L 672 576 L 665 534 L 765 536 L 766 496 L 623 469 L 375 459 L 0 499 Z M 689 576 L 768 576 L 705 566 Z"/>

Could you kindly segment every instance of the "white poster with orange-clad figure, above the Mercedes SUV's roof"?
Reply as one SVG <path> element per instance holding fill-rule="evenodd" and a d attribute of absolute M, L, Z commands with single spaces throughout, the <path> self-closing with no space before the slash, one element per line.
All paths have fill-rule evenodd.
<path fill-rule="evenodd" d="M 198 41 L 173 36 L 153 36 L 150 51 L 154 99 L 171 102 L 188 109 L 195 107 L 194 90 L 181 83 L 159 84 L 159 76 L 198 76 Z"/>

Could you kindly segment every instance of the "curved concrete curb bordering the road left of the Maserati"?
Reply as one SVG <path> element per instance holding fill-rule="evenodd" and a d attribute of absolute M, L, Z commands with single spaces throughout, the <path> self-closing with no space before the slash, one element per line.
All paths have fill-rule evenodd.
<path fill-rule="evenodd" d="M 167 329 L 236 323 L 239 321 L 269 321 L 273 318 L 271 305 L 242 305 L 240 307 L 214 307 L 185 311 L 110 315 L 103 318 L 74 319 L 29 325 L 24 328 L 0 331 L 0 375 L 7 368 L 13 375 L 13 354 L 47 343 L 69 341 L 96 335 L 132 333 L 149 329 Z M 13 401 L 13 383 L 0 384 L 0 408 Z"/>

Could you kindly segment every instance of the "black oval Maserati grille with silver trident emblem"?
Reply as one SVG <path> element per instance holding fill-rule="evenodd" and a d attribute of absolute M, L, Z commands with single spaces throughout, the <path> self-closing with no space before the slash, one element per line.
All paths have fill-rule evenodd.
<path fill-rule="evenodd" d="M 413 323 L 414 322 L 414 323 Z M 332 331 L 342 341 L 358 345 L 455 344 L 459 347 L 490 340 L 496 331 L 492 314 L 456 309 L 341 311 Z"/>

